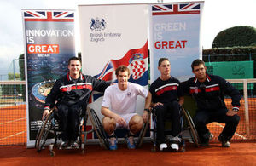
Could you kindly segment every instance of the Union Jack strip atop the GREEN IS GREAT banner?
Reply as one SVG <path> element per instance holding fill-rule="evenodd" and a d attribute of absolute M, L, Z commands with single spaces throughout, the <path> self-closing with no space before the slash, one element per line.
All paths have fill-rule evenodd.
<path fill-rule="evenodd" d="M 153 15 L 200 14 L 201 3 L 170 3 L 152 6 Z"/>

